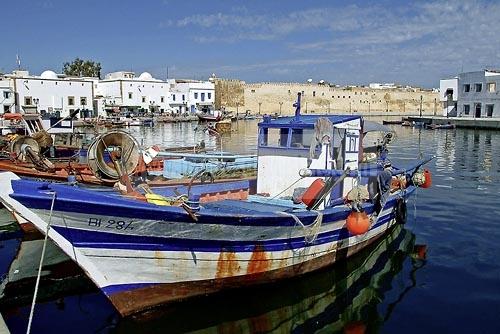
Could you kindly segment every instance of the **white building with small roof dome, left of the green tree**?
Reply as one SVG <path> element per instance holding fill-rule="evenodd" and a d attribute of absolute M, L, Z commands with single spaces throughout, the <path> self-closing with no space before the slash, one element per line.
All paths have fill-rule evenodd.
<path fill-rule="evenodd" d="M 28 71 L 14 71 L 5 75 L 14 92 L 15 112 L 49 113 L 66 117 L 76 109 L 92 110 L 94 90 L 92 81 L 57 75 L 45 71 L 31 76 Z"/>

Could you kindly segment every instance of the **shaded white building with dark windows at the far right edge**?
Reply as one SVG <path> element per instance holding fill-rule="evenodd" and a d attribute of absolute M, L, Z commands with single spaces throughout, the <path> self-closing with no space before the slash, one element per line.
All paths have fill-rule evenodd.
<path fill-rule="evenodd" d="M 483 70 L 458 75 L 458 116 L 500 117 L 500 71 Z"/>

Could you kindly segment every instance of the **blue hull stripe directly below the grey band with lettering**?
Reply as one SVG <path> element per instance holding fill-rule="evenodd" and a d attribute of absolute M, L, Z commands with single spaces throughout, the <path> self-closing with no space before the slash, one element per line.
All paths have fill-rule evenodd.
<path fill-rule="evenodd" d="M 394 213 L 381 217 L 372 226 L 376 228 L 390 221 Z M 327 231 L 318 234 L 314 243 L 307 243 L 304 237 L 273 239 L 273 240 L 200 240 L 164 238 L 153 236 L 124 235 L 100 231 L 86 231 L 80 229 L 68 229 L 62 226 L 53 226 L 59 234 L 72 242 L 75 247 L 101 248 L 101 249 L 129 249 L 148 251 L 196 251 L 196 252 L 252 252 L 255 245 L 259 245 L 265 251 L 282 251 L 298 249 L 311 245 L 320 245 L 349 238 L 351 235 L 346 228 Z"/>

